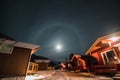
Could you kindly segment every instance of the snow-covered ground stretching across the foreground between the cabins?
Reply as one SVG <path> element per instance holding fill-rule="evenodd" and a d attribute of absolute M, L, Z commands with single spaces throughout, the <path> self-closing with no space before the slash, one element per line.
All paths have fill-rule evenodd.
<path fill-rule="evenodd" d="M 62 70 L 38 71 L 26 77 L 8 77 L 0 80 L 120 80 L 120 74 L 115 76 L 94 75 L 87 72 L 70 72 Z"/>

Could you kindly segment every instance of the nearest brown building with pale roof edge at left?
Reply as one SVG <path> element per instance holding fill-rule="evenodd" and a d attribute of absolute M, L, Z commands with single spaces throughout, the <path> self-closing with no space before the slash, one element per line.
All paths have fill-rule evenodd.
<path fill-rule="evenodd" d="M 39 45 L 0 38 L 0 77 L 25 76 Z"/>

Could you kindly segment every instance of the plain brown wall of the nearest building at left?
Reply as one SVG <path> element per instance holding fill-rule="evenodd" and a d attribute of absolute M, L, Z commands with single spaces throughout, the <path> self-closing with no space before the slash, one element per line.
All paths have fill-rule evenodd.
<path fill-rule="evenodd" d="M 15 47 L 12 54 L 0 53 L 0 76 L 25 76 L 31 50 Z"/>

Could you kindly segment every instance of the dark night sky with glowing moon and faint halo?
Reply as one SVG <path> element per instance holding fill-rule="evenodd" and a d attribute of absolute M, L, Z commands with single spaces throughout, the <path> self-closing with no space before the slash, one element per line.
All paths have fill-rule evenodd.
<path fill-rule="evenodd" d="M 64 61 L 96 38 L 120 30 L 120 0 L 3 0 L 0 32 L 41 46 L 37 55 Z M 58 49 L 56 49 L 56 46 Z"/>

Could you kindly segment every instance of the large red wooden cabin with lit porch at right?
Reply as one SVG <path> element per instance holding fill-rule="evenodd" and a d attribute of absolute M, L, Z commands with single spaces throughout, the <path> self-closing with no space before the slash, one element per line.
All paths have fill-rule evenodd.
<path fill-rule="evenodd" d="M 86 55 L 95 57 L 98 65 L 91 65 L 97 73 L 116 73 L 120 70 L 120 32 L 98 38 Z"/>

